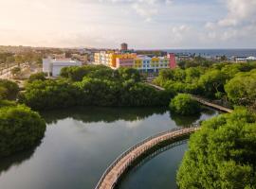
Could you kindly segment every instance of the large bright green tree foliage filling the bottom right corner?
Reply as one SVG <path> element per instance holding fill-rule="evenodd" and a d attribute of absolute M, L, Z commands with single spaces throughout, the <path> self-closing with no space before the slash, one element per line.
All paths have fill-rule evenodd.
<path fill-rule="evenodd" d="M 255 121 L 238 109 L 203 122 L 179 167 L 179 188 L 256 188 Z"/>

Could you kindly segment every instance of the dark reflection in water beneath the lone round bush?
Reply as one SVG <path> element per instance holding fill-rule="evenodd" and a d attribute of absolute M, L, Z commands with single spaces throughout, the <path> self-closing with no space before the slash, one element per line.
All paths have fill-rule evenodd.
<path fill-rule="evenodd" d="M 209 108 L 204 108 L 202 112 L 197 113 L 195 115 L 190 115 L 190 116 L 188 115 L 183 116 L 183 115 L 176 114 L 174 112 L 170 112 L 170 117 L 172 120 L 174 120 L 175 124 L 178 127 L 186 127 L 186 126 L 189 127 L 192 125 L 192 123 L 195 123 L 197 120 L 199 120 L 203 113 L 210 116 L 210 115 L 213 115 L 215 111 Z"/>

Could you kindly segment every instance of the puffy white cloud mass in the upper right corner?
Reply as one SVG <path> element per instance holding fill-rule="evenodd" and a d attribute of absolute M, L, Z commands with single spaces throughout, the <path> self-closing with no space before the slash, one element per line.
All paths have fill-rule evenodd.
<path fill-rule="evenodd" d="M 226 16 L 206 23 L 200 33 L 201 41 L 242 44 L 244 47 L 255 43 L 256 0 L 225 0 L 225 5 L 228 9 Z"/>

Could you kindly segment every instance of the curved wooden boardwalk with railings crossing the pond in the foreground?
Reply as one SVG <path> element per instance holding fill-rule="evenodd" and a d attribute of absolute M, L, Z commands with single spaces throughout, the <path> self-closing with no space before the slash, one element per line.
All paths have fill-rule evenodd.
<path fill-rule="evenodd" d="M 187 129 L 168 130 L 153 137 L 149 137 L 146 140 L 138 143 L 136 146 L 132 146 L 127 151 L 122 153 L 119 158 L 106 169 L 101 177 L 101 180 L 97 184 L 96 189 L 114 188 L 122 174 L 132 163 L 137 161 L 142 154 L 168 140 L 178 139 L 182 136 L 190 135 L 197 129 L 199 128 L 193 127 Z"/>

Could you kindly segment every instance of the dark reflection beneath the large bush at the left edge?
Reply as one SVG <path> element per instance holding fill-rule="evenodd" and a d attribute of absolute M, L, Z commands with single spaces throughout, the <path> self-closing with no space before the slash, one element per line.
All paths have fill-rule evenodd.
<path fill-rule="evenodd" d="M 11 166 L 19 165 L 27 160 L 29 160 L 34 154 L 37 146 L 40 146 L 41 142 L 39 142 L 36 146 L 31 149 L 28 149 L 23 152 L 17 152 L 7 158 L 0 159 L 0 175 L 1 173 L 8 171 Z"/>

